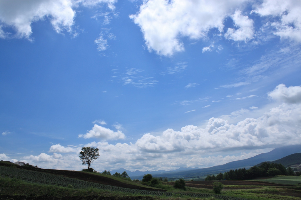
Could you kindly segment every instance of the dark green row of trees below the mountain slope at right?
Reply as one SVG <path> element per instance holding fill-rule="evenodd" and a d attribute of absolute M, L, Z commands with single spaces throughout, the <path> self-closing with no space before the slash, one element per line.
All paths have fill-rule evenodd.
<path fill-rule="evenodd" d="M 288 167 L 287 169 L 282 164 L 263 162 L 261 165 L 250 167 L 250 169 L 239 168 L 219 173 L 216 176 L 208 175 L 205 180 L 248 180 L 257 177 L 267 177 L 276 175 L 299 176 L 300 172 L 294 171 Z"/>

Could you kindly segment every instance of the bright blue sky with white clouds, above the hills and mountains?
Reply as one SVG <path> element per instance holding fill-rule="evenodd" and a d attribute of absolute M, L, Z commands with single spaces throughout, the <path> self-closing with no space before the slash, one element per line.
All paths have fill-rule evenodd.
<path fill-rule="evenodd" d="M 300 143 L 301 3 L 0 0 L 0 159 L 209 167 Z"/>

